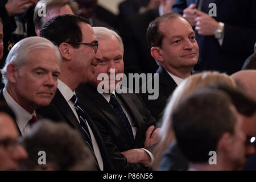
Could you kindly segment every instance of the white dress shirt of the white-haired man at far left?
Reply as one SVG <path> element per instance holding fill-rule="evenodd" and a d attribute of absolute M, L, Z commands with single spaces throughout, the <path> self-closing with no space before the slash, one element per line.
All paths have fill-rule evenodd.
<path fill-rule="evenodd" d="M 29 133 L 31 126 L 28 123 L 28 121 L 30 121 L 30 119 L 32 118 L 32 115 L 36 115 L 35 111 L 33 114 L 28 113 L 27 110 L 23 109 L 22 106 L 20 106 L 16 101 L 14 101 L 13 97 L 10 96 L 6 88 L 3 89 L 3 97 L 5 97 L 5 101 L 7 102 L 9 107 L 13 109 L 16 115 L 16 123 L 19 127 L 19 130 L 22 136 L 24 134 Z"/>

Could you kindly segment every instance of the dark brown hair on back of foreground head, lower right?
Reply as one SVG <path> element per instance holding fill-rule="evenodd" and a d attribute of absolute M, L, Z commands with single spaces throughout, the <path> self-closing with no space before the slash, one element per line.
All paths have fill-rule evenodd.
<path fill-rule="evenodd" d="M 229 96 L 217 89 L 200 89 L 178 104 L 172 113 L 177 144 L 193 163 L 208 162 L 224 133 L 234 133 L 236 117 Z"/>

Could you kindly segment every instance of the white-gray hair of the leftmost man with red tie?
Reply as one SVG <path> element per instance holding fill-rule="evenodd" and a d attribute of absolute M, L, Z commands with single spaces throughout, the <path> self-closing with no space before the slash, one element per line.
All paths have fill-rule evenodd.
<path fill-rule="evenodd" d="M 28 54 L 35 50 L 35 49 L 53 49 L 55 51 L 56 55 L 59 57 L 60 63 L 61 63 L 61 56 L 59 49 L 51 43 L 51 41 L 38 37 L 38 36 L 32 36 L 30 38 L 25 38 L 20 40 L 18 43 L 14 45 L 13 48 L 11 48 L 11 51 L 9 52 L 5 66 L 1 70 L 2 73 L 2 82 L 3 84 L 7 85 L 8 79 L 7 79 L 7 67 L 10 63 L 15 64 L 16 67 L 21 68 L 27 61 Z"/>

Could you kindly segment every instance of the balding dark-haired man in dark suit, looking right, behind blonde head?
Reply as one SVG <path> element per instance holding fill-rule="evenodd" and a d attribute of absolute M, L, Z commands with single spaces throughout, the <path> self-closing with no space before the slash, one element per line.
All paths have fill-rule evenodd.
<path fill-rule="evenodd" d="M 152 115 L 159 121 L 168 97 L 177 85 L 191 75 L 199 57 L 199 47 L 191 24 L 176 13 L 164 14 L 152 21 L 148 26 L 147 40 L 151 47 L 151 56 L 160 66 L 156 72 L 158 75 L 148 80 L 147 84 L 157 83 L 154 87 L 159 87 L 159 97 L 150 100 L 148 93 L 141 96 Z"/>

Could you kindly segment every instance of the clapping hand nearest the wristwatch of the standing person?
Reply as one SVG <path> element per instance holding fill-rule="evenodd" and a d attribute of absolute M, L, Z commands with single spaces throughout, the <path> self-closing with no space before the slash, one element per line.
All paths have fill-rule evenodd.
<path fill-rule="evenodd" d="M 218 29 L 218 22 L 208 14 L 196 10 L 196 30 L 200 35 L 214 35 Z"/>

